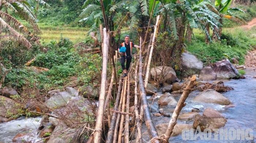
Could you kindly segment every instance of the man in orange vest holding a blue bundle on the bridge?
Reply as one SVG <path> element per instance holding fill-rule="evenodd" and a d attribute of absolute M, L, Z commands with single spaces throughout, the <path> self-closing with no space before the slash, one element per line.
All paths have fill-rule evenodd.
<path fill-rule="evenodd" d="M 120 62 L 123 69 L 122 77 L 127 76 L 127 71 L 129 70 L 129 67 L 132 61 L 132 47 L 140 48 L 138 45 L 135 45 L 130 41 L 129 35 L 125 35 L 124 41 L 125 42 L 121 43 L 120 47 L 118 48 L 118 52 L 121 54 Z M 126 67 L 124 65 L 125 60 L 126 60 Z"/>

